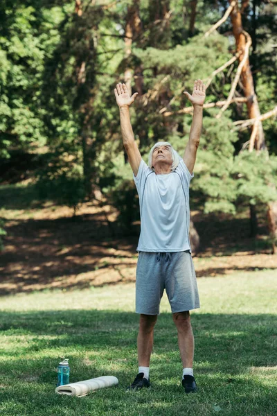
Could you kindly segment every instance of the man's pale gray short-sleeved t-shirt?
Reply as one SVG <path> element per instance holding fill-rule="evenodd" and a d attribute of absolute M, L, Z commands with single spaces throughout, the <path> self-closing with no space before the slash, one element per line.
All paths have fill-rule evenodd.
<path fill-rule="evenodd" d="M 133 173 L 141 213 L 137 251 L 191 252 L 189 187 L 193 176 L 183 159 L 175 171 L 163 175 L 156 175 L 141 159 L 138 174 Z"/>

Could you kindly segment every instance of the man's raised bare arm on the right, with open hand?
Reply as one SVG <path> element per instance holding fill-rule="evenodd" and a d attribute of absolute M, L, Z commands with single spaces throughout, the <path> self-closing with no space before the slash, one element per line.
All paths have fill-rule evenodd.
<path fill-rule="evenodd" d="M 190 103 L 193 104 L 193 123 L 190 128 L 190 137 L 188 139 L 188 144 L 186 145 L 183 160 L 190 173 L 193 173 L 197 148 L 199 146 L 202 131 L 203 104 L 206 97 L 205 84 L 203 84 L 202 80 L 197 80 L 193 87 L 193 95 L 188 94 L 188 92 L 184 92 L 184 94 L 186 94 Z"/>

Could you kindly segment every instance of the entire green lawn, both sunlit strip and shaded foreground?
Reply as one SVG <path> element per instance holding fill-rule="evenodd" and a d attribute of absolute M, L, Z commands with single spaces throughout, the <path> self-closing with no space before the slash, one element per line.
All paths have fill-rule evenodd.
<path fill-rule="evenodd" d="M 198 279 L 191 313 L 199 392 L 180 386 L 177 331 L 166 294 L 154 331 L 152 388 L 126 392 L 137 372 L 134 284 L 2 297 L 0 415 L 277 414 L 276 271 Z M 119 384 L 87 397 L 55 394 L 55 367 L 70 381 L 115 375 Z"/>

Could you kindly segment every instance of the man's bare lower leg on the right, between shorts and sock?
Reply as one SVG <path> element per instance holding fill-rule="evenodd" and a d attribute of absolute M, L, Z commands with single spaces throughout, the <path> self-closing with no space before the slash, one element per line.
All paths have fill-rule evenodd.
<path fill-rule="evenodd" d="M 190 323 L 190 312 L 173 313 L 173 320 L 178 331 L 178 345 L 183 368 L 193 368 L 195 340 L 193 337 L 193 328 Z"/>

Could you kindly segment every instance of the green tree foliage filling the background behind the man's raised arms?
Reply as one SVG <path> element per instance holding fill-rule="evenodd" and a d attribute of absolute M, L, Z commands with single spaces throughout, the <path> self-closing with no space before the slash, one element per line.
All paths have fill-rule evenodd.
<path fill-rule="evenodd" d="M 118 220 L 129 229 L 139 206 L 132 171 L 124 162 L 114 87 L 123 81 L 126 69 L 134 75 L 139 68 L 143 97 L 132 105 L 131 115 L 143 157 L 160 140 L 183 154 L 192 122 L 190 114 L 178 113 L 190 105 L 183 92 L 191 92 L 196 78 L 205 80 L 229 60 L 234 48 L 231 22 L 227 19 L 205 38 L 205 31 L 222 17 L 226 1 L 215 7 L 213 1 L 199 0 L 196 35 L 189 37 L 190 3 L 171 1 L 172 14 L 163 21 L 166 3 L 143 0 L 138 3 L 143 30 L 134 35 L 127 56 L 122 35 L 127 7 L 133 2 L 123 0 L 109 8 L 96 3 L 82 1 L 80 16 L 73 1 L 1 3 L 0 157 L 10 157 L 14 149 L 28 152 L 48 146 L 51 157 L 37 171 L 41 196 L 76 209 L 84 193 L 88 196 L 90 189 L 100 186 L 118 207 Z M 276 105 L 276 17 L 271 5 L 249 2 L 243 18 L 253 38 L 250 59 L 263 113 Z M 207 103 L 228 96 L 236 66 L 237 62 L 213 78 Z M 133 89 L 136 83 L 137 78 Z M 243 94 L 240 86 L 237 92 Z M 164 116 L 165 110 L 173 115 Z M 263 122 L 267 159 L 266 154 L 240 153 L 249 131 L 233 131 L 233 121 L 247 118 L 246 105 L 232 104 L 221 119 L 215 119 L 217 113 L 218 108 L 204 111 L 191 188 L 202 196 L 204 212 L 235 214 L 240 203 L 275 200 L 274 119 Z"/>

